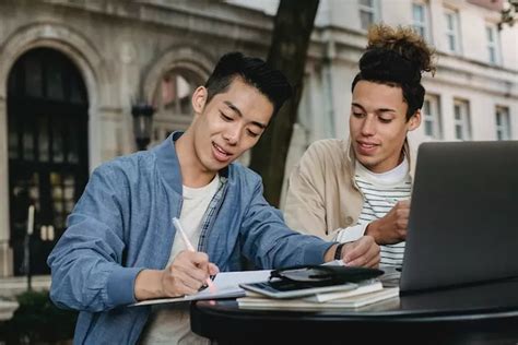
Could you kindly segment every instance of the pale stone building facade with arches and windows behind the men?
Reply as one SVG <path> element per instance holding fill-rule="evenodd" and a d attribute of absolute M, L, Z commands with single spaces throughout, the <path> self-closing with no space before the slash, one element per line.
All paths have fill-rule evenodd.
<path fill-rule="evenodd" d="M 192 90 L 221 55 L 266 58 L 278 1 L 0 1 L 0 276 L 32 271 L 89 174 L 136 150 L 131 106 L 156 108 L 151 145 L 191 120 Z M 491 0 L 320 0 L 286 176 L 307 145 L 345 138 L 369 24 L 414 25 L 438 52 L 412 140 L 518 139 L 518 27 Z M 246 157 L 245 157 L 246 163 Z M 34 216 L 30 204 L 35 205 Z M 27 218 L 33 222 L 27 222 Z"/>

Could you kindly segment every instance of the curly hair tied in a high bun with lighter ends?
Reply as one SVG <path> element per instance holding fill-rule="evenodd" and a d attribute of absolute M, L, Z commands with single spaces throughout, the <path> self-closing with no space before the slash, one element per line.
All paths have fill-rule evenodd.
<path fill-rule="evenodd" d="M 360 72 L 351 91 L 364 80 L 389 86 L 399 86 L 409 105 L 407 120 L 423 107 L 425 90 L 421 85 L 422 72 L 435 72 L 434 50 L 411 27 L 379 24 L 368 32 L 367 50 L 360 59 Z"/>

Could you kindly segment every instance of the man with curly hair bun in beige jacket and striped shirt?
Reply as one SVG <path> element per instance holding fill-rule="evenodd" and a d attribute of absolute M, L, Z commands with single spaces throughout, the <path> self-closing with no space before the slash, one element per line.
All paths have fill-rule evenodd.
<path fill-rule="evenodd" d="M 313 143 L 289 180 L 286 223 L 351 246 L 372 236 L 381 266 L 400 267 L 410 213 L 413 154 L 407 133 L 421 124 L 423 72 L 434 51 L 410 27 L 376 25 L 352 83 L 349 140 Z"/>

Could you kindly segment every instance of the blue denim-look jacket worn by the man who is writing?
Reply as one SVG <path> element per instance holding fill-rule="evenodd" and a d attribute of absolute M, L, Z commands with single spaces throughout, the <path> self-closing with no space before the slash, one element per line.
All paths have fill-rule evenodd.
<path fill-rule="evenodd" d="M 143 269 L 164 269 L 183 204 L 181 172 L 172 134 L 156 147 L 116 158 L 95 169 L 68 229 L 48 258 L 50 298 L 80 310 L 74 344 L 134 344 L 150 313 L 136 302 L 134 279 Z M 234 163 L 223 198 L 205 218 L 199 249 L 220 270 L 319 264 L 332 245 L 286 227 L 262 197 L 261 178 Z"/>

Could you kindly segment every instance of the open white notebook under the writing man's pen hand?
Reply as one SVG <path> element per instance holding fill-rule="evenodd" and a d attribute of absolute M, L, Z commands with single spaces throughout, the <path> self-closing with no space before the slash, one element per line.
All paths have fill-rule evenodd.
<path fill-rule="evenodd" d="M 243 297 L 245 296 L 245 290 L 239 287 L 239 284 L 268 281 L 268 278 L 270 277 L 270 270 L 222 272 L 219 273 L 213 281 L 215 288 L 213 292 L 211 292 L 209 288 L 204 288 L 203 290 L 195 295 L 174 298 L 150 299 L 137 302 L 134 305 L 130 305 L 130 307 L 181 302 L 199 299 Z"/>

